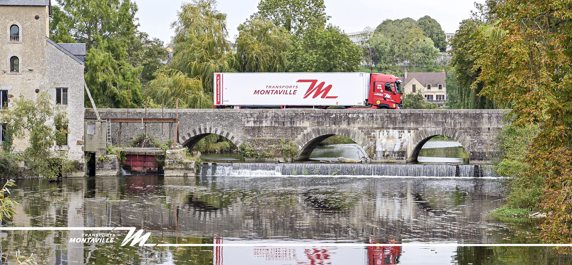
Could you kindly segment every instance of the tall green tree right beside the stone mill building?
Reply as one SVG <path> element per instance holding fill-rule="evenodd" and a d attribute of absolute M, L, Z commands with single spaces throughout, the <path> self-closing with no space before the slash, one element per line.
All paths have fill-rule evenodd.
<path fill-rule="evenodd" d="M 50 36 L 86 43 L 85 81 L 98 107 L 125 108 L 141 103 L 142 68 L 129 64 L 128 43 L 136 38 L 137 5 L 131 0 L 58 0 Z M 128 90 L 130 94 L 128 94 Z M 86 105 L 88 97 L 86 98 Z"/>

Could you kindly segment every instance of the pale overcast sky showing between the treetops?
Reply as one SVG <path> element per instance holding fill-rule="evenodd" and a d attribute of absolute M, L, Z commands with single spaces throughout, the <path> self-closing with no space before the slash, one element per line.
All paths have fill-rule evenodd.
<path fill-rule="evenodd" d="M 184 2 L 180 0 L 134 0 L 137 2 L 141 31 L 150 37 L 160 38 L 169 43 L 173 35 L 170 28 L 177 18 L 177 11 Z M 227 14 L 227 29 L 229 40 L 238 34 L 236 27 L 243 23 L 251 14 L 257 11 L 260 0 L 218 0 L 217 9 Z M 470 16 L 470 10 L 475 10 L 474 2 L 484 3 L 484 0 L 324 0 L 326 14 L 331 16 L 328 23 L 339 26 L 345 33 L 363 30 L 370 26 L 375 29 L 385 19 L 410 17 L 419 19 L 430 15 L 441 24 L 446 33 L 454 33 L 459 23 Z"/>

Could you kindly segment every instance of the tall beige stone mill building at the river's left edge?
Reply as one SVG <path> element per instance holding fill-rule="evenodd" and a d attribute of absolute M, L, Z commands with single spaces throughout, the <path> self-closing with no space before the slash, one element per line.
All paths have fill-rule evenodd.
<path fill-rule="evenodd" d="M 53 42 L 50 16 L 50 0 L 0 0 L 0 100 L 10 108 L 14 98 L 47 92 L 69 119 L 67 144 L 54 149 L 83 161 L 85 43 Z M 14 151 L 27 145 L 16 140 Z"/>

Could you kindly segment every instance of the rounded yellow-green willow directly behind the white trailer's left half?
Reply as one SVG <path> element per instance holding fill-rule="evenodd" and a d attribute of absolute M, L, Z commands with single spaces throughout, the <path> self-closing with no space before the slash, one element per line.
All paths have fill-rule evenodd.
<path fill-rule="evenodd" d="M 236 39 L 241 72 L 284 72 L 292 48 L 291 35 L 271 21 L 254 19 L 239 26 Z"/>

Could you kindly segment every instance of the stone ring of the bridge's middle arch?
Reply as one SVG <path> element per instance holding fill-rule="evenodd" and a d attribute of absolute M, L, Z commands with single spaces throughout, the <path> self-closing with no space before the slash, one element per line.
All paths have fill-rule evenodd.
<path fill-rule="evenodd" d="M 300 133 L 300 135 L 295 139 L 298 148 L 300 148 L 300 152 L 298 153 L 298 157 L 296 161 L 300 160 L 308 160 L 312 151 L 320 144 L 322 141 L 327 139 L 328 137 L 334 135 L 341 135 L 348 137 L 352 141 L 359 144 L 364 151 L 368 152 L 371 151 L 373 144 L 367 137 L 356 129 L 351 128 L 332 128 L 332 127 L 316 127 L 304 130 L 304 132 Z"/>

